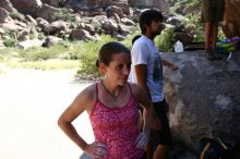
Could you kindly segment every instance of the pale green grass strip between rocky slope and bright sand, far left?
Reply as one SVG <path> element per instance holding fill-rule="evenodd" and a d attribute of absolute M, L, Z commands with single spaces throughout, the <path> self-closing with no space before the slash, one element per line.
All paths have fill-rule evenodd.
<path fill-rule="evenodd" d="M 0 61 L 11 68 L 38 69 L 38 70 L 59 70 L 76 69 L 79 60 L 60 59 L 61 52 L 71 50 L 70 42 L 57 44 L 47 48 L 20 48 L 0 49 Z M 60 53 L 60 54 L 59 54 Z"/>

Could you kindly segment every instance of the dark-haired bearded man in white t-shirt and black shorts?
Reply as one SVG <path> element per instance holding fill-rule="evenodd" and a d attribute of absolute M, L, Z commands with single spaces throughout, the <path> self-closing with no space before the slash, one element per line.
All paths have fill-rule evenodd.
<path fill-rule="evenodd" d="M 172 63 L 163 60 L 155 46 L 154 38 L 164 29 L 163 14 L 157 10 L 146 10 L 140 15 L 142 36 L 136 39 L 131 50 L 132 65 L 129 81 L 139 84 L 149 95 L 161 129 L 156 127 L 158 119 L 152 125 L 151 140 L 146 148 L 147 159 L 166 159 L 172 142 L 168 124 L 168 105 L 163 87 L 163 65 L 177 70 Z"/>

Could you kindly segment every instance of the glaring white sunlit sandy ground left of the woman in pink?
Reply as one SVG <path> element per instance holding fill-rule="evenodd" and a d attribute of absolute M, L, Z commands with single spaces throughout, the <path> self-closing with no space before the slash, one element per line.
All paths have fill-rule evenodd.
<path fill-rule="evenodd" d="M 74 82 L 74 70 L 0 70 L 0 158 L 79 159 L 81 149 L 57 120 L 89 83 Z M 93 140 L 86 113 L 74 125 L 87 142 Z"/>

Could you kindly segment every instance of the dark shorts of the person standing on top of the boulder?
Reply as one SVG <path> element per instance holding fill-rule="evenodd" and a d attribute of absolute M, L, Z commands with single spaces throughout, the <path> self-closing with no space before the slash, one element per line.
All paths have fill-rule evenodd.
<path fill-rule="evenodd" d="M 224 19 L 225 0 L 203 0 L 201 21 L 221 22 Z"/>

